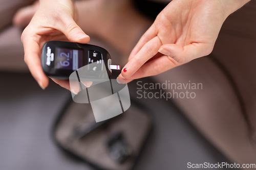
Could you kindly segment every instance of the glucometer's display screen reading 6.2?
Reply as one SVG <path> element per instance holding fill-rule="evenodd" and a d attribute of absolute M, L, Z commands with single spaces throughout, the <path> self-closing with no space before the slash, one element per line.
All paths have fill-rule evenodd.
<path fill-rule="evenodd" d="M 56 48 L 54 68 L 77 70 L 82 67 L 82 50 Z"/>

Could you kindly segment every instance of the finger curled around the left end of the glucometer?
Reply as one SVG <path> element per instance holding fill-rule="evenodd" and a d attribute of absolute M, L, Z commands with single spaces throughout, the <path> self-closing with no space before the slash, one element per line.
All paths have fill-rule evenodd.
<path fill-rule="evenodd" d="M 26 34 L 26 33 L 25 33 Z M 37 81 L 38 85 L 45 89 L 49 84 L 49 78 L 44 74 L 44 71 L 41 67 L 41 61 L 40 61 L 40 47 L 39 44 L 31 37 L 26 37 L 24 35 L 23 37 L 23 45 L 24 45 L 24 61 L 29 67 L 29 70 L 34 77 L 34 79 Z"/>

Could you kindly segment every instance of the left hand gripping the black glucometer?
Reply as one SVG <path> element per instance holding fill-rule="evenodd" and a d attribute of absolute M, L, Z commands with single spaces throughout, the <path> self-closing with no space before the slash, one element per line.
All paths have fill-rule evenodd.
<path fill-rule="evenodd" d="M 77 26 L 76 18 L 75 7 L 71 0 L 41 0 L 38 10 L 22 34 L 24 60 L 42 89 L 45 89 L 49 83 L 40 61 L 41 48 L 45 42 L 69 40 L 88 43 L 90 41 L 90 37 Z M 53 80 L 70 90 L 69 81 Z"/>

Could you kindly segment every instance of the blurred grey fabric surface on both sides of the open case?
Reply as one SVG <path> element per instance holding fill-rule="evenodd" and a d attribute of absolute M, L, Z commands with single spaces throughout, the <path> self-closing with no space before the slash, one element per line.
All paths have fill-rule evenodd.
<path fill-rule="evenodd" d="M 0 169 L 93 169 L 51 139 L 54 120 L 71 93 L 51 82 L 41 90 L 30 74 L 0 73 Z M 136 86 L 129 84 L 130 89 Z M 137 96 L 136 90 L 130 90 Z M 138 100 L 153 112 L 154 129 L 135 169 L 186 169 L 187 162 L 226 162 L 170 102 Z"/>

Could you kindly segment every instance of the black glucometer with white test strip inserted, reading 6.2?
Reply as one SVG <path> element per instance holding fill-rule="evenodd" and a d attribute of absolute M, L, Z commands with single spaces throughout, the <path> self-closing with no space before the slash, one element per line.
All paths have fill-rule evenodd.
<path fill-rule="evenodd" d="M 111 62 L 109 52 L 96 45 L 48 41 L 42 47 L 42 69 L 47 76 L 56 79 L 69 79 L 72 72 L 91 63 L 96 66 L 90 68 L 90 71 L 101 71 L 105 67 L 110 78 L 111 68 L 120 69 L 120 66 L 111 65 Z"/>

